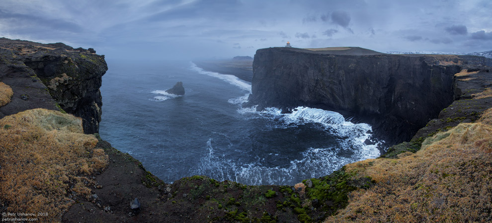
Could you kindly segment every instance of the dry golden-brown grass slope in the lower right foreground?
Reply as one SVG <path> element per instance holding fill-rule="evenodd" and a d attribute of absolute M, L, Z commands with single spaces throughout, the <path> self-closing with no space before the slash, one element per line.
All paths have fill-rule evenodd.
<path fill-rule="evenodd" d="M 428 138 L 416 153 L 345 166 L 376 181 L 325 222 L 492 222 L 492 109 Z"/>

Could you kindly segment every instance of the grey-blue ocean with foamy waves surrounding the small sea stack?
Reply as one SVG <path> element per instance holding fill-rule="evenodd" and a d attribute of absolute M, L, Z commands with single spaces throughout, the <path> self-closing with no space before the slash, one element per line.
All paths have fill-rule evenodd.
<path fill-rule="evenodd" d="M 102 77 L 103 140 L 165 182 L 192 175 L 250 185 L 294 185 L 376 158 L 371 126 L 298 107 L 242 107 L 251 84 L 190 61 L 108 61 Z M 184 96 L 167 94 L 182 81 Z"/>

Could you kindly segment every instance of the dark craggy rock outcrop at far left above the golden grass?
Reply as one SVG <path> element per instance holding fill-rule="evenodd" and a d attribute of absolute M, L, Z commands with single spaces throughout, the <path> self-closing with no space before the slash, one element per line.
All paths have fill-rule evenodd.
<path fill-rule="evenodd" d="M 49 92 L 42 100 L 38 100 L 41 96 L 30 97 L 27 100 L 31 102 L 26 101 L 26 105 L 53 109 L 50 104 L 54 104 L 55 109 L 59 106 L 67 113 L 81 117 L 84 133 L 99 131 L 102 106 L 99 87 L 101 77 L 108 69 L 104 56 L 96 55 L 93 49 L 74 49 L 63 43 L 40 44 L 5 38 L 0 38 L 0 48 L 5 67 L 1 76 L 9 77 L 13 84 L 18 84 L 19 80 L 25 82 L 19 84 L 19 91 L 23 85 L 36 83 L 36 89 L 44 89 L 45 94 L 46 91 Z M 40 92 L 31 93 L 42 95 Z M 20 95 L 16 95 L 14 90 L 13 98 L 16 97 Z M 34 100 L 44 105 L 32 103 Z M 5 109 L 8 111 L 1 111 L 2 114 L 10 115 L 31 109 L 13 105 L 10 107 L 12 109 Z"/>

